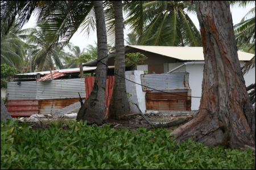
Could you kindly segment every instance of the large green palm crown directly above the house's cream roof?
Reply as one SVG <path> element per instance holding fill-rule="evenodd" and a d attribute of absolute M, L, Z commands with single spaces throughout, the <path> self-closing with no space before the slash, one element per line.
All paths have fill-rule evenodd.
<path fill-rule="evenodd" d="M 139 45 L 201 46 L 200 32 L 185 12 L 194 8 L 186 1 L 127 1 L 125 23 Z"/>

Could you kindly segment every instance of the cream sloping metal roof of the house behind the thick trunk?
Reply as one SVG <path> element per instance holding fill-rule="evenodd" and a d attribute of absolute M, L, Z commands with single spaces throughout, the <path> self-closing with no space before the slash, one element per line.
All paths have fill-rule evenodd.
<path fill-rule="evenodd" d="M 204 60 L 203 47 L 201 46 L 148 46 L 148 45 L 127 45 L 132 48 L 146 50 L 148 52 L 162 54 L 163 56 L 181 60 Z M 240 61 L 249 61 L 254 54 L 238 51 Z"/>

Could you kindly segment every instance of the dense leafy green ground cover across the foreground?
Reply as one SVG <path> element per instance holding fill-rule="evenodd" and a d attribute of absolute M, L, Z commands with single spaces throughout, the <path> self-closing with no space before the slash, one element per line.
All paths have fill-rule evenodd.
<path fill-rule="evenodd" d="M 250 150 L 174 142 L 170 131 L 116 130 L 72 121 L 34 130 L 1 122 L 1 169 L 253 169 Z"/>

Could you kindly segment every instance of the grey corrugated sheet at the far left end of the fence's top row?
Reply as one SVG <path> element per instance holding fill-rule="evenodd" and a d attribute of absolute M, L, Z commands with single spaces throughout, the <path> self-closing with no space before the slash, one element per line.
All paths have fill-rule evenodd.
<path fill-rule="evenodd" d="M 35 100 L 36 82 L 9 82 L 7 93 L 8 100 Z"/>

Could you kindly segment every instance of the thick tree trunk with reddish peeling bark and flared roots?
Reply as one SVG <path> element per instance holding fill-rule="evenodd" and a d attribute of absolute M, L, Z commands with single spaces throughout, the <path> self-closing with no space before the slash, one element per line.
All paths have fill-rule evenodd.
<path fill-rule="evenodd" d="M 199 113 L 175 129 L 178 142 L 192 138 L 207 146 L 255 146 L 255 113 L 238 61 L 228 1 L 196 1 L 204 49 Z"/>

